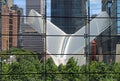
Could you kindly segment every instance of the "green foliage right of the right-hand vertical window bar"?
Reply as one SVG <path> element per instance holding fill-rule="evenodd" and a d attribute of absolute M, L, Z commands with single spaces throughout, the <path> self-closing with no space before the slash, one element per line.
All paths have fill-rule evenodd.
<path fill-rule="evenodd" d="M 120 63 L 106 64 L 104 62 L 92 62 L 90 64 L 91 81 L 119 81 Z"/>

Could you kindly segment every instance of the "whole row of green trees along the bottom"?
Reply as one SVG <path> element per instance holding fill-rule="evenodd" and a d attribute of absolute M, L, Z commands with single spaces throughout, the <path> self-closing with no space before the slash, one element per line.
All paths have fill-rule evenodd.
<path fill-rule="evenodd" d="M 66 65 L 55 65 L 52 58 L 40 62 L 39 54 L 18 48 L 0 52 L 2 60 L 16 56 L 12 63 L 2 63 L 2 81 L 119 81 L 120 63 L 106 64 L 93 61 L 89 65 L 89 78 L 86 65 L 78 66 L 71 57 Z M 4 55 L 5 54 L 5 55 Z"/>

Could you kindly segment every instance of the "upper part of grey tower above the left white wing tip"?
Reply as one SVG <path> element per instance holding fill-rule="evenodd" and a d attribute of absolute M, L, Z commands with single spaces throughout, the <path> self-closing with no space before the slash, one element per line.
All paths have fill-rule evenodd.
<path fill-rule="evenodd" d="M 26 15 L 29 14 L 31 9 L 41 13 L 41 0 L 26 0 Z"/>

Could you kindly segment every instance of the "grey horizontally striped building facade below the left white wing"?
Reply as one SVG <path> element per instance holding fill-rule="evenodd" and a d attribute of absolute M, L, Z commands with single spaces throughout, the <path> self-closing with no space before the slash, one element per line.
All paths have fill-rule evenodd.
<path fill-rule="evenodd" d="M 20 47 L 43 53 L 43 36 L 27 24 L 22 24 L 21 27 L 22 37 L 19 40 Z"/>

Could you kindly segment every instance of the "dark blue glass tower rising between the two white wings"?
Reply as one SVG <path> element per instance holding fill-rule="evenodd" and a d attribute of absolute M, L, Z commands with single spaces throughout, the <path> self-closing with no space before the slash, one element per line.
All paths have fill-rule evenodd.
<path fill-rule="evenodd" d="M 85 25 L 86 0 L 51 0 L 51 21 L 66 33 Z"/>

